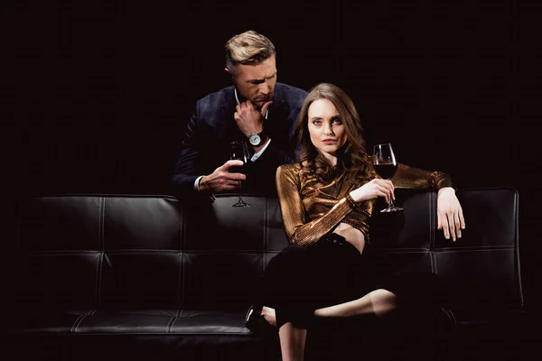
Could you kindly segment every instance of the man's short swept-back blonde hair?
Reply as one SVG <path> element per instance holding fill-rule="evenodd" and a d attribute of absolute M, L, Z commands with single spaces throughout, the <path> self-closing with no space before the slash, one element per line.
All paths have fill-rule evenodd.
<path fill-rule="evenodd" d="M 226 68 L 233 72 L 238 64 L 254 65 L 276 55 L 275 45 L 266 36 L 249 30 L 226 42 Z"/>

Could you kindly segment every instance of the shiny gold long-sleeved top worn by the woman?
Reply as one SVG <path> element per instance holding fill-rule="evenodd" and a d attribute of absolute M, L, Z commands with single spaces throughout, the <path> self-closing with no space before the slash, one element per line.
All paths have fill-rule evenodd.
<path fill-rule="evenodd" d="M 376 199 L 354 203 L 349 194 L 372 178 L 360 184 L 343 179 L 340 175 L 324 181 L 314 171 L 304 170 L 301 163 L 278 167 L 276 189 L 285 233 L 291 244 L 311 245 L 341 222 L 359 229 L 367 238 Z M 443 172 L 423 171 L 404 164 L 398 164 L 397 173 L 391 180 L 395 188 L 440 190 L 453 187 L 452 179 Z"/>

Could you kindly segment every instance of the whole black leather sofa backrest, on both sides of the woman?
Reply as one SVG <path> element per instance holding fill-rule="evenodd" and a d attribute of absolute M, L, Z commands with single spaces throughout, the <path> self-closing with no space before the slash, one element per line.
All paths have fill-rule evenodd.
<path fill-rule="evenodd" d="M 451 243 L 435 230 L 435 192 L 397 190 L 405 211 L 371 220 L 382 269 L 440 274 L 458 304 L 521 304 L 517 191 L 458 195 L 467 229 Z M 62 310 L 245 310 L 288 243 L 277 199 L 244 199 L 251 207 L 230 207 L 232 195 L 198 207 L 152 195 L 25 199 L 14 300 Z"/>

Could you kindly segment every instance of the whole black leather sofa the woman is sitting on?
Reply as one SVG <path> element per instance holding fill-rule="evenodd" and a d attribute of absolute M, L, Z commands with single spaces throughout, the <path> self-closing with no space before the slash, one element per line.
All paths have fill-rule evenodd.
<path fill-rule="evenodd" d="M 524 330 L 531 315 L 521 290 L 518 192 L 459 190 L 458 197 L 467 228 L 455 243 L 436 230 L 434 191 L 397 190 L 405 210 L 371 219 L 380 272 L 436 274 L 448 295 L 431 322 L 411 312 L 400 326 L 384 326 L 378 347 L 427 359 L 521 359 L 530 347 Z M 287 245 L 280 208 L 277 199 L 257 196 L 245 197 L 250 208 L 231 208 L 235 200 L 225 195 L 194 206 L 153 195 L 22 199 L 14 239 L 4 239 L 5 355 L 279 359 L 276 335 L 251 333 L 244 317 L 252 286 Z M 363 319 L 355 324 L 350 336 L 352 329 L 359 334 L 341 336 L 340 348 L 348 344 L 362 357 L 376 331 Z M 427 332 L 416 338 L 420 325 Z M 325 332 L 314 332 L 322 334 L 309 337 L 307 347 L 326 348 L 328 356 L 307 358 L 343 359 L 329 356 L 339 354 L 322 341 Z"/>

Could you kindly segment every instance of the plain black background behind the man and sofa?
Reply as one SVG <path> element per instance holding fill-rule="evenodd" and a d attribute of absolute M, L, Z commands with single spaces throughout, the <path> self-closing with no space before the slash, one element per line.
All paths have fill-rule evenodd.
<path fill-rule="evenodd" d="M 0 5 L 5 219 L 28 194 L 168 193 L 195 101 L 230 84 L 224 43 L 254 29 L 276 45 L 279 81 L 350 94 L 369 145 L 391 142 L 399 162 L 460 189 L 519 190 L 524 293 L 537 304 L 541 5 L 182 3 Z"/>

